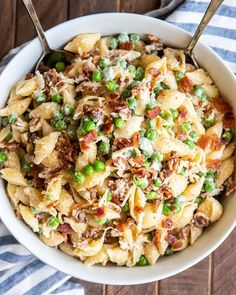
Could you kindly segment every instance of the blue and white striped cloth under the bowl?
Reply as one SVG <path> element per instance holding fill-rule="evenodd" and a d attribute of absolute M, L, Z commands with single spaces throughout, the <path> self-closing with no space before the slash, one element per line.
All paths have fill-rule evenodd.
<path fill-rule="evenodd" d="M 160 9 L 148 14 L 193 33 L 209 0 L 161 2 Z M 224 1 L 201 40 L 212 47 L 236 73 L 236 0 Z M 0 72 L 21 48 L 13 49 L 0 62 Z M 70 281 L 70 276 L 45 265 L 19 245 L 0 221 L 0 295 L 23 294 L 82 295 L 84 290 L 78 283 Z"/>

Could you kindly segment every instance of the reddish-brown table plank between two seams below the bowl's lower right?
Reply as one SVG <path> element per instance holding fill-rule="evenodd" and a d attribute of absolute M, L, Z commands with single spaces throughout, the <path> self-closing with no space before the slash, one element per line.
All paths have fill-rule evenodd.
<path fill-rule="evenodd" d="M 208 295 L 209 292 L 209 257 L 159 283 L 160 295 Z"/>

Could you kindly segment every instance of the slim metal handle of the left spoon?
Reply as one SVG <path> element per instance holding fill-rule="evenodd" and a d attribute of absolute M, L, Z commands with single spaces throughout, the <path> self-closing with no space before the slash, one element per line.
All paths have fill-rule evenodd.
<path fill-rule="evenodd" d="M 27 9 L 27 11 L 29 13 L 29 16 L 30 16 L 30 18 L 31 18 L 31 20 L 32 20 L 32 22 L 34 24 L 34 27 L 35 27 L 35 29 L 36 29 L 36 31 L 38 33 L 39 40 L 40 40 L 40 42 L 42 44 L 42 47 L 43 47 L 43 51 L 46 54 L 46 53 L 51 51 L 51 48 L 50 48 L 50 46 L 48 44 L 48 41 L 46 39 L 43 28 L 42 28 L 42 26 L 40 24 L 40 21 L 38 19 L 38 16 L 36 14 L 35 9 L 34 9 L 34 5 L 33 5 L 31 0 L 22 0 L 22 1 L 23 1 L 24 5 L 25 5 L 25 8 Z"/>

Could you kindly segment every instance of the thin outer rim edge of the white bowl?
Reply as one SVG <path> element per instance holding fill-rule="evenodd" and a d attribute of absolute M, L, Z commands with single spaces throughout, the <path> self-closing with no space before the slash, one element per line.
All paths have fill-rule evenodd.
<path fill-rule="evenodd" d="M 156 24 L 162 23 L 162 24 L 164 24 L 164 26 L 167 26 L 167 27 L 169 27 L 171 29 L 174 28 L 174 29 L 177 29 L 178 31 L 183 32 L 186 36 L 188 36 L 188 38 L 191 37 L 191 34 L 189 32 L 187 32 L 187 31 L 185 31 L 185 30 L 183 30 L 183 29 L 181 29 L 181 28 L 179 28 L 179 27 L 177 27 L 177 26 L 175 26 L 173 24 L 170 24 L 170 23 L 168 23 L 166 21 L 163 21 L 163 20 L 160 20 L 160 19 L 156 19 L 156 18 L 153 18 L 151 16 L 147 16 L 147 15 L 140 15 L 140 14 L 135 14 L 135 13 L 120 13 L 120 12 L 98 13 L 98 14 L 91 14 L 91 15 L 76 17 L 76 18 L 73 18 L 71 20 L 62 22 L 62 23 L 60 23 L 60 24 L 58 24 L 58 25 L 50 28 L 49 30 L 45 31 L 46 32 L 46 35 L 53 34 L 54 31 L 58 30 L 59 27 L 62 27 L 65 24 L 68 24 L 68 23 L 73 24 L 74 23 L 76 25 L 76 22 L 78 20 L 87 19 L 87 18 L 88 19 L 89 18 L 96 18 L 97 16 L 98 17 L 106 17 L 106 16 L 114 16 L 114 17 L 117 17 L 117 16 L 118 17 L 126 16 L 127 17 L 128 16 L 128 17 L 136 17 L 136 18 L 139 17 L 139 18 L 143 18 L 143 19 L 147 19 L 147 20 L 152 19 L 152 21 L 153 22 L 156 22 Z M 17 53 L 11 59 L 11 61 L 5 66 L 4 70 L 0 74 L 0 80 L 1 80 L 1 77 L 4 74 L 4 72 L 8 68 L 8 66 L 14 64 L 15 59 L 17 59 L 20 55 L 24 55 L 24 52 L 28 48 L 30 48 L 31 46 L 35 46 L 37 40 L 38 40 L 38 37 L 36 37 L 33 40 L 31 40 L 26 46 L 24 46 L 19 51 L 19 53 Z M 231 69 L 229 68 L 229 66 L 223 62 L 223 60 L 221 59 L 221 57 L 219 57 L 210 47 L 208 47 L 207 45 L 203 44 L 201 41 L 198 41 L 198 43 L 201 44 L 201 46 L 204 48 L 204 50 L 207 50 L 208 52 L 210 52 L 210 54 L 213 55 L 221 63 L 221 66 L 227 69 L 228 74 L 231 75 L 231 77 L 234 78 L 233 72 L 231 71 Z M 5 190 L 5 188 L 4 188 L 4 190 Z M 4 197 L 7 197 L 7 193 L 5 193 L 5 196 Z M 37 258 L 39 258 L 44 263 L 46 263 L 46 264 L 48 264 L 48 265 L 50 265 L 50 266 L 58 269 L 59 271 L 62 271 L 62 272 L 65 271 L 65 267 L 63 265 L 60 265 L 60 262 L 54 261 L 52 263 L 50 261 L 47 261 L 46 255 L 44 255 L 43 251 L 41 251 L 41 252 L 39 251 L 38 252 L 37 249 L 35 249 L 34 247 L 31 247 L 28 244 L 26 244 L 26 242 L 24 240 L 24 237 L 21 236 L 21 234 L 17 230 L 15 230 L 15 228 L 14 228 L 14 224 L 16 222 L 19 222 L 19 220 L 17 220 L 17 219 L 15 219 L 15 220 L 8 219 L 7 216 L 4 215 L 4 212 L 1 211 L 1 210 L 0 210 L 0 218 L 2 219 L 3 223 L 6 225 L 6 227 L 10 231 L 10 233 L 16 238 L 16 240 L 21 245 L 23 245 L 27 250 L 29 250 L 33 255 L 35 255 Z M 178 273 L 180 273 L 180 272 L 182 272 L 182 271 L 184 271 L 184 270 L 192 267 L 193 265 L 199 263 L 201 260 L 203 260 L 205 257 L 207 257 L 209 254 L 211 254 L 229 236 L 229 234 L 233 231 L 235 225 L 236 225 L 236 220 L 230 226 L 228 226 L 227 230 L 224 232 L 223 235 L 221 235 L 218 238 L 217 242 L 214 245 L 209 246 L 209 249 L 207 251 L 201 252 L 192 261 L 187 262 L 187 263 L 184 262 L 180 266 L 175 267 L 172 271 L 168 271 L 168 272 L 165 271 L 163 275 L 159 275 L 158 277 L 157 277 L 157 275 L 155 275 L 155 272 L 153 272 L 152 276 L 150 276 L 149 278 L 144 278 L 144 279 L 138 278 L 138 280 L 136 278 L 134 278 L 134 277 L 132 277 L 129 280 L 119 279 L 119 278 L 117 278 L 117 279 L 111 279 L 109 277 L 106 277 L 103 280 L 96 279 L 96 278 L 89 278 L 88 279 L 88 275 L 86 275 L 86 272 L 85 273 L 81 272 L 79 275 L 76 275 L 73 271 L 70 271 L 68 268 L 66 269 L 66 274 L 69 274 L 72 277 L 75 277 L 75 278 L 78 278 L 78 279 L 82 279 L 82 280 L 85 280 L 85 281 L 89 281 L 89 282 L 100 283 L 100 284 L 116 284 L 116 285 L 123 285 L 123 284 L 125 284 L 125 285 L 143 284 L 143 283 L 148 283 L 148 282 L 153 282 L 153 281 L 156 281 L 156 280 L 161 280 L 161 279 L 164 279 L 164 278 L 168 278 L 168 277 L 171 277 L 171 276 L 173 276 L 175 274 L 178 274 Z M 48 246 L 46 246 L 46 247 L 48 247 Z M 64 254 L 62 252 L 61 252 L 60 255 L 66 255 L 66 256 L 68 256 L 67 254 Z M 175 255 L 178 255 L 178 253 L 175 254 Z M 72 258 L 72 259 L 74 259 L 74 258 Z M 88 267 L 88 266 L 86 266 L 86 267 Z M 92 266 L 92 267 L 94 267 L 94 266 Z M 115 266 L 115 267 L 117 268 L 117 266 Z M 152 266 L 147 266 L 147 267 L 152 267 Z M 133 268 L 129 268 L 129 270 L 132 270 L 132 269 Z M 131 271 L 131 273 L 132 273 L 132 271 Z"/>

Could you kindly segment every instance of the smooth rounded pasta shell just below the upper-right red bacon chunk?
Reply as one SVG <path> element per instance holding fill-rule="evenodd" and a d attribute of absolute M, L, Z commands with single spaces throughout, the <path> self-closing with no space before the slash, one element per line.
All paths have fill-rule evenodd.
<path fill-rule="evenodd" d="M 178 109 L 184 100 L 184 93 L 174 89 L 166 89 L 159 94 L 158 105 L 162 110 Z"/>

